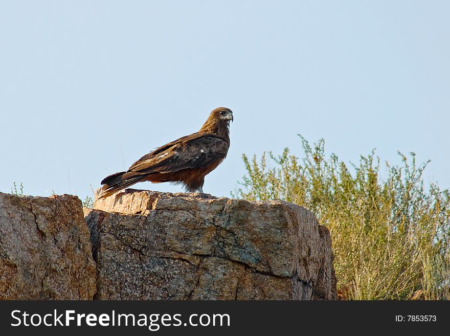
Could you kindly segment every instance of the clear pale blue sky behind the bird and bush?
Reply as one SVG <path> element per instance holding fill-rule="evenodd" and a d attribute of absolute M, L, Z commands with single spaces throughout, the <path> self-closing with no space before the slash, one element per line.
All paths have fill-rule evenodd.
<path fill-rule="evenodd" d="M 450 188 L 448 1 L 2 1 L 0 191 L 92 196 L 106 175 L 233 110 L 204 191 L 242 153 L 302 156 L 299 133 L 358 162 L 431 160 Z M 181 186 L 133 188 L 181 192 Z"/>

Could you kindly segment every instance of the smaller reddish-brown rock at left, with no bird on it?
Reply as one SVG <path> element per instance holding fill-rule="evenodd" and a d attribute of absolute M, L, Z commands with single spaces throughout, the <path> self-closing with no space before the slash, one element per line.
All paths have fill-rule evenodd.
<path fill-rule="evenodd" d="M 76 196 L 0 192 L 0 299 L 90 300 L 96 265 Z"/>

